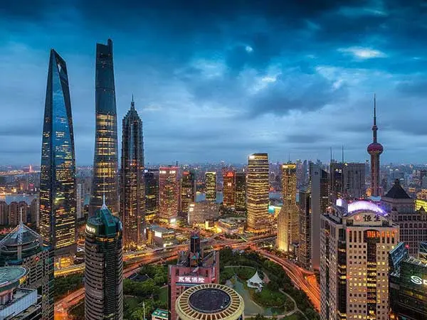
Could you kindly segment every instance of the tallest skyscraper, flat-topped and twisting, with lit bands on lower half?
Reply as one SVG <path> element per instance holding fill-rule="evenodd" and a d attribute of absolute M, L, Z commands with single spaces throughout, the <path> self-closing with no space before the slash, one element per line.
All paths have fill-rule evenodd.
<path fill-rule="evenodd" d="M 105 204 L 113 215 L 119 211 L 117 168 L 117 112 L 115 102 L 112 41 L 96 45 L 95 71 L 95 154 L 89 215 Z"/>

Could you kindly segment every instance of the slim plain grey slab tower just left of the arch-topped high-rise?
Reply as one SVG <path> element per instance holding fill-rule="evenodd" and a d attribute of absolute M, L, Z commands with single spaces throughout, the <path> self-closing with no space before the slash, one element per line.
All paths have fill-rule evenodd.
<path fill-rule="evenodd" d="M 311 267 L 320 267 L 320 215 L 329 206 L 330 179 L 319 164 L 310 163 L 310 208 L 311 208 Z"/>

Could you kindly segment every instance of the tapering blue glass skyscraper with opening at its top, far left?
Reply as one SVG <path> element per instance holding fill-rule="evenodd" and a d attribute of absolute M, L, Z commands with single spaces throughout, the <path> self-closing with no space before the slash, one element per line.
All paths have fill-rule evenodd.
<path fill-rule="evenodd" d="M 40 230 L 56 257 L 75 252 L 75 154 L 67 65 L 51 50 L 41 146 Z"/>

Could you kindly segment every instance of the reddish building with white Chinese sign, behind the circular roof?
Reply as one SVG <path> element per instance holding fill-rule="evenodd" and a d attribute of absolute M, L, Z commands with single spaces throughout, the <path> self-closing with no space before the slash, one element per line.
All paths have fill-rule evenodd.
<path fill-rule="evenodd" d="M 192 233 L 189 250 L 181 252 L 176 265 L 169 265 L 169 319 L 176 319 L 176 301 L 180 294 L 199 284 L 218 284 L 219 252 L 204 255 L 200 236 Z"/>

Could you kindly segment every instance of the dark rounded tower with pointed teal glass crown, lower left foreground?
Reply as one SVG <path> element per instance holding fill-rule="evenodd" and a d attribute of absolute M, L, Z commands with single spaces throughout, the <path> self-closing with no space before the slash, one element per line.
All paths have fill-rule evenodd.
<path fill-rule="evenodd" d="M 122 223 L 105 203 L 85 229 L 85 320 L 123 319 Z"/>

